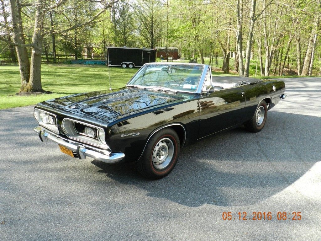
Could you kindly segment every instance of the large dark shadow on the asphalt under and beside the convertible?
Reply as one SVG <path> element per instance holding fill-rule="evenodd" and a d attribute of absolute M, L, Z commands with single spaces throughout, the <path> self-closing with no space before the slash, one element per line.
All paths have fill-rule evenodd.
<path fill-rule="evenodd" d="M 172 173 L 158 181 L 139 176 L 133 163 L 92 163 L 118 183 L 181 205 L 251 205 L 282 191 L 320 161 L 320 123 L 319 117 L 270 111 L 259 133 L 240 127 L 184 147 Z"/>

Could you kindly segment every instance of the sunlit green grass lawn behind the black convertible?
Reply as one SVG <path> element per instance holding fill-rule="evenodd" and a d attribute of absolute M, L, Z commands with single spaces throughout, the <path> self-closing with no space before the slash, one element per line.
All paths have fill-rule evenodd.
<path fill-rule="evenodd" d="M 219 64 L 220 61 L 219 59 Z M 230 62 L 230 65 L 232 64 Z M 138 68 L 110 67 L 112 88 L 125 86 L 137 71 Z M 224 75 L 221 72 L 212 72 L 212 74 L 213 76 Z M 42 64 L 41 76 L 43 89 L 54 92 L 54 94 L 17 96 L 15 93 L 19 91 L 21 85 L 19 67 L 0 65 L 0 109 L 34 105 L 69 94 L 109 89 L 108 67 L 101 65 Z M 298 76 L 257 76 L 257 78 L 278 77 Z"/>

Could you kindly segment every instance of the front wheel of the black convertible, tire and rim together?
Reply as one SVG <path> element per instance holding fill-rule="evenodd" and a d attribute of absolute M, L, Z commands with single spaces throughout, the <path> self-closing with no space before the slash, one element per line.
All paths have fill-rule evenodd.
<path fill-rule="evenodd" d="M 144 177 L 160 179 L 173 170 L 179 150 L 177 133 L 170 128 L 161 129 L 149 139 L 136 167 Z"/>

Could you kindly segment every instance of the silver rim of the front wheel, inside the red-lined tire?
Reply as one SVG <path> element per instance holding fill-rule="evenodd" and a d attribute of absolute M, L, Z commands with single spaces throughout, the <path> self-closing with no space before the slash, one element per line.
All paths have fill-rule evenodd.
<path fill-rule="evenodd" d="M 155 145 L 152 154 L 152 163 L 158 170 L 166 168 L 174 156 L 174 144 L 169 138 L 162 138 Z"/>

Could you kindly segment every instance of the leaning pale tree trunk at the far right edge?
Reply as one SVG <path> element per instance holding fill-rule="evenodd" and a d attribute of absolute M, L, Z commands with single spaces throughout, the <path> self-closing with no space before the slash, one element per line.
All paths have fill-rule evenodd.
<path fill-rule="evenodd" d="M 318 5 L 319 5 L 318 8 L 320 9 L 321 7 L 320 0 L 318 1 Z M 313 20 L 313 27 L 312 27 L 311 35 L 308 42 L 307 52 L 304 58 L 304 64 L 303 64 L 301 76 L 308 75 L 310 66 L 313 66 L 312 56 L 314 57 L 314 50 L 317 42 L 317 30 L 318 30 L 319 22 L 320 22 L 320 13 L 317 12 Z M 311 73 L 312 73 L 312 69 L 311 69 Z"/>

